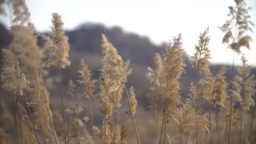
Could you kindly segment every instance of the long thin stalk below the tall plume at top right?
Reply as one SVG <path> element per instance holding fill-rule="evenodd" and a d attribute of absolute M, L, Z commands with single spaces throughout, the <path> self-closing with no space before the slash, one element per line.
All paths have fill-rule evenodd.
<path fill-rule="evenodd" d="M 231 71 L 231 90 L 233 89 L 234 69 L 235 69 L 235 51 L 233 52 L 233 62 L 232 62 L 232 71 Z M 229 144 L 230 144 L 230 137 L 231 137 L 231 122 L 232 122 L 232 92 L 230 93 L 230 118 L 229 118 L 229 136 L 228 136 Z"/>

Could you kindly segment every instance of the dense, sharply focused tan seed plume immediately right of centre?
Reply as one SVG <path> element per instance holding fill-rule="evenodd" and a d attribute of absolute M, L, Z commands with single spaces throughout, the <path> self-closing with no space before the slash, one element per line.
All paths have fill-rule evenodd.
<path fill-rule="evenodd" d="M 166 122 L 173 120 L 174 115 L 178 112 L 177 105 L 181 104 L 181 95 L 179 94 L 179 78 L 184 71 L 184 50 L 182 49 L 182 35 L 174 37 L 168 45 L 163 61 L 162 91 L 164 95 L 164 112 L 166 112 Z"/>

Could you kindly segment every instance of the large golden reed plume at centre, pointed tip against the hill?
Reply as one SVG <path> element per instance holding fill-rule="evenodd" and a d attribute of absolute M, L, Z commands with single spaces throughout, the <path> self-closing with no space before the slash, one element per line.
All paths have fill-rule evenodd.
<path fill-rule="evenodd" d="M 118 55 L 113 44 L 109 43 L 108 39 L 102 34 L 102 68 L 100 76 L 100 107 L 104 114 L 104 129 L 105 137 L 107 129 L 107 121 L 111 129 L 114 128 L 114 106 L 121 106 L 121 99 L 127 76 L 131 74 L 129 69 L 130 61 L 123 62 L 123 59 Z M 112 96 L 112 101 L 109 97 Z M 107 111 L 110 110 L 110 111 Z M 107 113 L 108 112 L 108 113 Z M 113 130 L 112 130 L 113 131 Z M 106 142 L 107 140 L 105 140 Z"/>

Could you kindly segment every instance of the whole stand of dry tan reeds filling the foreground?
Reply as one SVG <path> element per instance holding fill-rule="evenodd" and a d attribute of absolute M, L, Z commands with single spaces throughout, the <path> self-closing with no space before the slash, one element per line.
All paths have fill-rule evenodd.
<path fill-rule="evenodd" d="M 0 4 L 5 2 L 9 1 L 1 1 Z M 229 7 L 231 19 L 220 29 L 225 32 L 223 43 L 240 53 L 241 47 L 250 47 L 252 38 L 247 33 L 251 30 L 251 22 L 245 2 L 235 2 L 235 7 Z M 234 75 L 233 64 L 230 82 L 226 81 L 225 67 L 213 75 L 210 70 L 209 28 L 199 35 L 195 45 L 192 57 L 195 81 L 191 81 L 188 98 L 184 101 L 179 92 L 179 80 L 186 66 L 182 35 L 170 40 L 163 55 L 156 53 L 155 66 L 149 67 L 146 74 L 150 111 L 144 112 L 136 100 L 139 89 L 126 86 L 132 73 L 130 60 L 123 61 L 106 35 L 102 34 L 102 60 L 93 66 L 99 67 L 101 63 L 98 80 L 92 79 L 93 74 L 82 58 L 76 80 L 69 80 L 69 87 L 65 89 L 62 87 L 61 70 L 71 62 L 61 16 L 53 14 L 50 37 L 43 35 L 44 49 L 39 49 L 25 2 L 15 0 L 8 5 L 13 12 L 10 28 L 13 41 L 2 51 L 1 88 L 7 92 L 5 95 L 14 97 L 16 115 L 15 118 L 7 116 L 9 110 L 3 105 L 1 94 L 0 143 L 256 142 L 253 98 L 256 82 L 251 66 L 242 55 L 243 65 L 237 67 L 238 75 Z M 4 9 L 0 9 L 0 14 L 4 14 Z M 94 57 L 88 57 L 88 61 L 94 61 L 91 59 Z M 52 65 L 59 72 L 61 95 L 60 99 L 54 100 L 45 85 L 46 78 L 54 77 L 46 69 Z M 123 94 L 126 94 L 126 101 L 123 101 Z M 20 95 L 25 99 L 19 98 Z M 70 97 L 64 99 L 64 95 Z M 54 105 L 61 105 L 62 115 Z M 205 110 L 205 105 L 210 106 L 209 111 Z M 7 121 L 16 122 L 10 128 L 16 133 L 2 128 L 2 123 Z"/>

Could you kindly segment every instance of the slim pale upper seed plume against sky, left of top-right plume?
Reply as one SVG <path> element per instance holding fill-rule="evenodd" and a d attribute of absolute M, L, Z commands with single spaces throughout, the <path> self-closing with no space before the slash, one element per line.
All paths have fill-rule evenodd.
<path fill-rule="evenodd" d="M 208 67 L 210 66 L 210 43 L 209 28 L 199 35 L 198 45 L 195 45 L 196 52 L 194 53 L 192 67 L 198 70 L 199 73 L 210 73 Z"/>

